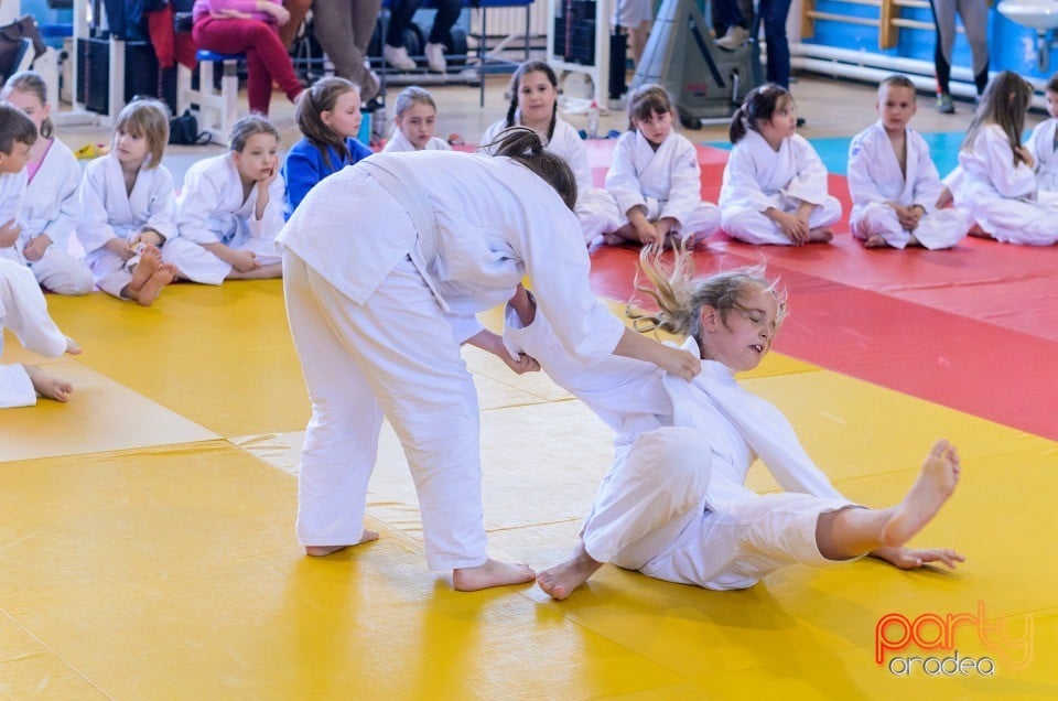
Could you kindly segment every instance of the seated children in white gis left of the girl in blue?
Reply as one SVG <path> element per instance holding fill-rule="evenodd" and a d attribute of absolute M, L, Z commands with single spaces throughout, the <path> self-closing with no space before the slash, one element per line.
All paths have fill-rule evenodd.
<path fill-rule="evenodd" d="M 41 77 L 11 76 L 3 99 L 0 149 L 24 158 L 0 176 L 0 257 L 30 268 L 43 287 L 85 294 L 98 284 L 149 305 L 176 277 L 217 284 L 280 274 L 271 245 L 283 223 L 279 133 L 266 118 L 240 119 L 229 151 L 195 163 L 177 202 L 161 163 L 169 119 L 159 103 L 127 105 L 110 153 L 82 177 L 54 138 Z M 74 233 L 84 260 L 71 252 Z"/>

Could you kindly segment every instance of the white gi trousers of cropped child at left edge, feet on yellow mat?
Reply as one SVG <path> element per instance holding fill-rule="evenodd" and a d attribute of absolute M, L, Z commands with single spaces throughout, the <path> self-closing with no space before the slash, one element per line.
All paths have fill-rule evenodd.
<path fill-rule="evenodd" d="M 47 302 L 28 268 L 0 258 L 0 356 L 3 330 L 10 328 L 22 345 L 50 358 L 66 352 L 66 336 L 47 314 Z M 36 391 L 21 365 L 0 365 L 0 409 L 32 407 Z"/>

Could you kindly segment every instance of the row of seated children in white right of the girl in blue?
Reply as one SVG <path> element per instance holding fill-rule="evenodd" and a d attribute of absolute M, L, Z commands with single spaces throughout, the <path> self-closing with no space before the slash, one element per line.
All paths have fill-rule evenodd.
<path fill-rule="evenodd" d="M 1014 88 L 1022 90 L 1021 99 L 1014 99 L 1010 84 L 1015 77 L 1000 74 L 993 80 L 993 90 L 982 97 L 962 145 L 961 160 L 987 158 L 991 162 L 987 148 L 974 148 L 982 130 L 985 134 L 995 133 L 996 129 L 1021 132 L 1032 91 L 1024 80 L 1014 82 Z M 1049 109 L 1058 114 L 1055 88 L 1058 76 L 1048 89 Z M 694 239 L 704 238 L 723 228 L 733 238 L 751 244 L 801 245 L 830 240 L 831 227 L 841 217 L 840 202 L 827 190 L 825 166 L 811 144 L 796 133 L 792 96 L 778 86 L 753 90 L 732 118 L 733 148 L 724 170 L 719 207 L 701 199 L 701 171 L 694 147 L 674 131 L 674 106 L 658 86 L 644 86 L 630 97 L 629 128 L 614 149 L 603 188 L 592 186 L 584 143 L 558 114 L 558 78 L 547 63 L 521 64 L 511 77 L 509 100 L 506 117 L 489 126 L 479 143 L 487 149 L 504 129 L 512 126 L 529 127 L 540 133 L 547 150 L 561 155 L 574 173 L 579 191 L 576 213 L 589 242 L 601 236 L 611 244 L 660 244 L 684 233 Z M 916 110 L 914 83 L 900 75 L 884 79 L 876 107 L 878 121 L 857 134 L 850 147 L 853 236 L 868 248 L 919 245 L 942 249 L 961 240 L 971 230 L 971 224 L 975 230 L 994 235 L 996 227 L 989 219 L 989 203 L 995 198 L 987 193 L 981 196 L 980 185 L 961 194 L 961 206 L 943 206 L 944 185 L 929 148 L 909 127 Z M 435 119 L 436 105 L 430 94 L 418 87 L 406 89 L 397 99 L 395 128 L 385 150 L 450 148 L 434 136 Z M 1035 163 L 1044 202 L 1046 192 L 1058 187 L 1056 123 L 1055 119 L 1041 123 L 1025 147 L 1008 139 L 1012 152 L 1021 149 Z M 359 144 L 356 147 L 363 149 L 364 155 L 369 153 Z M 363 157 L 353 162 L 358 158 Z M 1000 160 L 1005 160 L 1002 154 Z M 1010 161 L 1014 163 L 1013 155 Z M 996 170 L 993 165 L 972 170 L 986 175 L 984 185 L 990 192 L 994 188 L 989 181 L 1006 177 L 1002 168 Z M 958 182 L 965 185 L 980 180 Z M 1028 187 L 1036 192 L 1035 185 Z M 1003 192 L 1003 187 L 995 192 Z M 1018 197 L 1036 198 L 1035 194 L 1014 195 L 1015 199 Z M 1003 198 L 1010 197 L 1001 195 L 1000 199 Z M 1022 211 L 1015 227 L 1021 235 L 1011 236 L 1001 228 L 996 238 L 1054 242 L 1055 235 L 1037 216 L 1038 204 L 1015 203 L 1012 207 Z M 1000 209 L 1007 208 L 1001 203 Z M 1046 233 L 1035 234 L 1032 225 L 1024 225 L 1025 217 L 1033 219 L 1037 228 L 1047 228 Z"/>

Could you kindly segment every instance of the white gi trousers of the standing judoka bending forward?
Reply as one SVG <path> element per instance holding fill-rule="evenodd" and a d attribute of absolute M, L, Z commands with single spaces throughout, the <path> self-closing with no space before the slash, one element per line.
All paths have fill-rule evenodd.
<path fill-rule="evenodd" d="M 359 541 L 385 414 L 419 495 L 429 567 L 484 564 L 477 395 L 419 271 L 406 259 L 357 304 L 287 250 L 283 289 L 312 400 L 299 477 L 301 542 Z"/>

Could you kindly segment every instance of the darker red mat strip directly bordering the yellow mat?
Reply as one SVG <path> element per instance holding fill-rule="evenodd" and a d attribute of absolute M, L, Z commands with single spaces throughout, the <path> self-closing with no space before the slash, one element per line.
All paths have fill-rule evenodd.
<path fill-rule="evenodd" d="M 720 252 L 720 251 L 715 251 Z M 701 271 L 758 263 L 752 247 L 697 254 Z M 637 251 L 593 254 L 596 294 L 628 300 Z M 913 397 L 1058 440 L 1058 342 L 775 265 L 791 313 L 775 349 Z"/>

